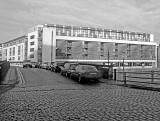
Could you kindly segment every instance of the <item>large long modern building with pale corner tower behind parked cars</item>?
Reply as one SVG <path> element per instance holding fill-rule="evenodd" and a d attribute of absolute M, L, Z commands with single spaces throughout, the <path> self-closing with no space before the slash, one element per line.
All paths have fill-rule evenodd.
<path fill-rule="evenodd" d="M 28 38 L 32 38 L 29 43 L 34 41 L 36 62 L 87 62 L 121 67 L 125 61 L 128 67 L 157 67 L 158 44 L 152 34 L 45 24 L 35 27 Z"/>

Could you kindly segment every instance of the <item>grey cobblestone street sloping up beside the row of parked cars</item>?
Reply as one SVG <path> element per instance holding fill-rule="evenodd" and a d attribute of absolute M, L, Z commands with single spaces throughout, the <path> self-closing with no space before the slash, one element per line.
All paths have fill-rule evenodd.
<path fill-rule="evenodd" d="M 47 73 L 46 70 L 31 69 L 21 72 L 26 85 L 17 86 L 0 95 L 0 121 L 160 120 L 159 92 L 106 83 L 82 85 L 59 74 Z M 46 84 L 37 77 L 34 77 L 36 80 L 31 80 L 32 75 L 27 77 L 27 73 L 35 76 L 47 73 L 48 77 L 42 79 L 46 79 Z M 36 81 L 39 83 L 37 86 Z"/>

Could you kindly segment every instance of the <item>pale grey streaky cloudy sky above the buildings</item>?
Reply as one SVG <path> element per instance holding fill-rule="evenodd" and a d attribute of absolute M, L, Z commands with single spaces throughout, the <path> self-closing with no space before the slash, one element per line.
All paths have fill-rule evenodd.
<path fill-rule="evenodd" d="M 152 33 L 160 43 L 160 0 L 0 0 L 0 43 L 38 24 Z"/>

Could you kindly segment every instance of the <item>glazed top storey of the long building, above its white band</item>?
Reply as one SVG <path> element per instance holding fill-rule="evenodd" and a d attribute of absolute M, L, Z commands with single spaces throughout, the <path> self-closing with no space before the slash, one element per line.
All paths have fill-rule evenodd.
<path fill-rule="evenodd" d="M 58 36 L 88 37 L 130 41 L 150 41 L 150 34 L 84 27 L 56 27 Z"/>

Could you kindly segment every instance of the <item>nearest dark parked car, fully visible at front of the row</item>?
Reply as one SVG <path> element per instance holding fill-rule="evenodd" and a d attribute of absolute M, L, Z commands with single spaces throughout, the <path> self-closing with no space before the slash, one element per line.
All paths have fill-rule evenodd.
<path fill-rule="evenodd" d="M 77 65 L 75 69 L 71 71 L 70 78 L 75 77 L 79 83 L 84 82 L 86 79 L 98 82 L 101 78 L 101 72 L 92 65 Z"/>

